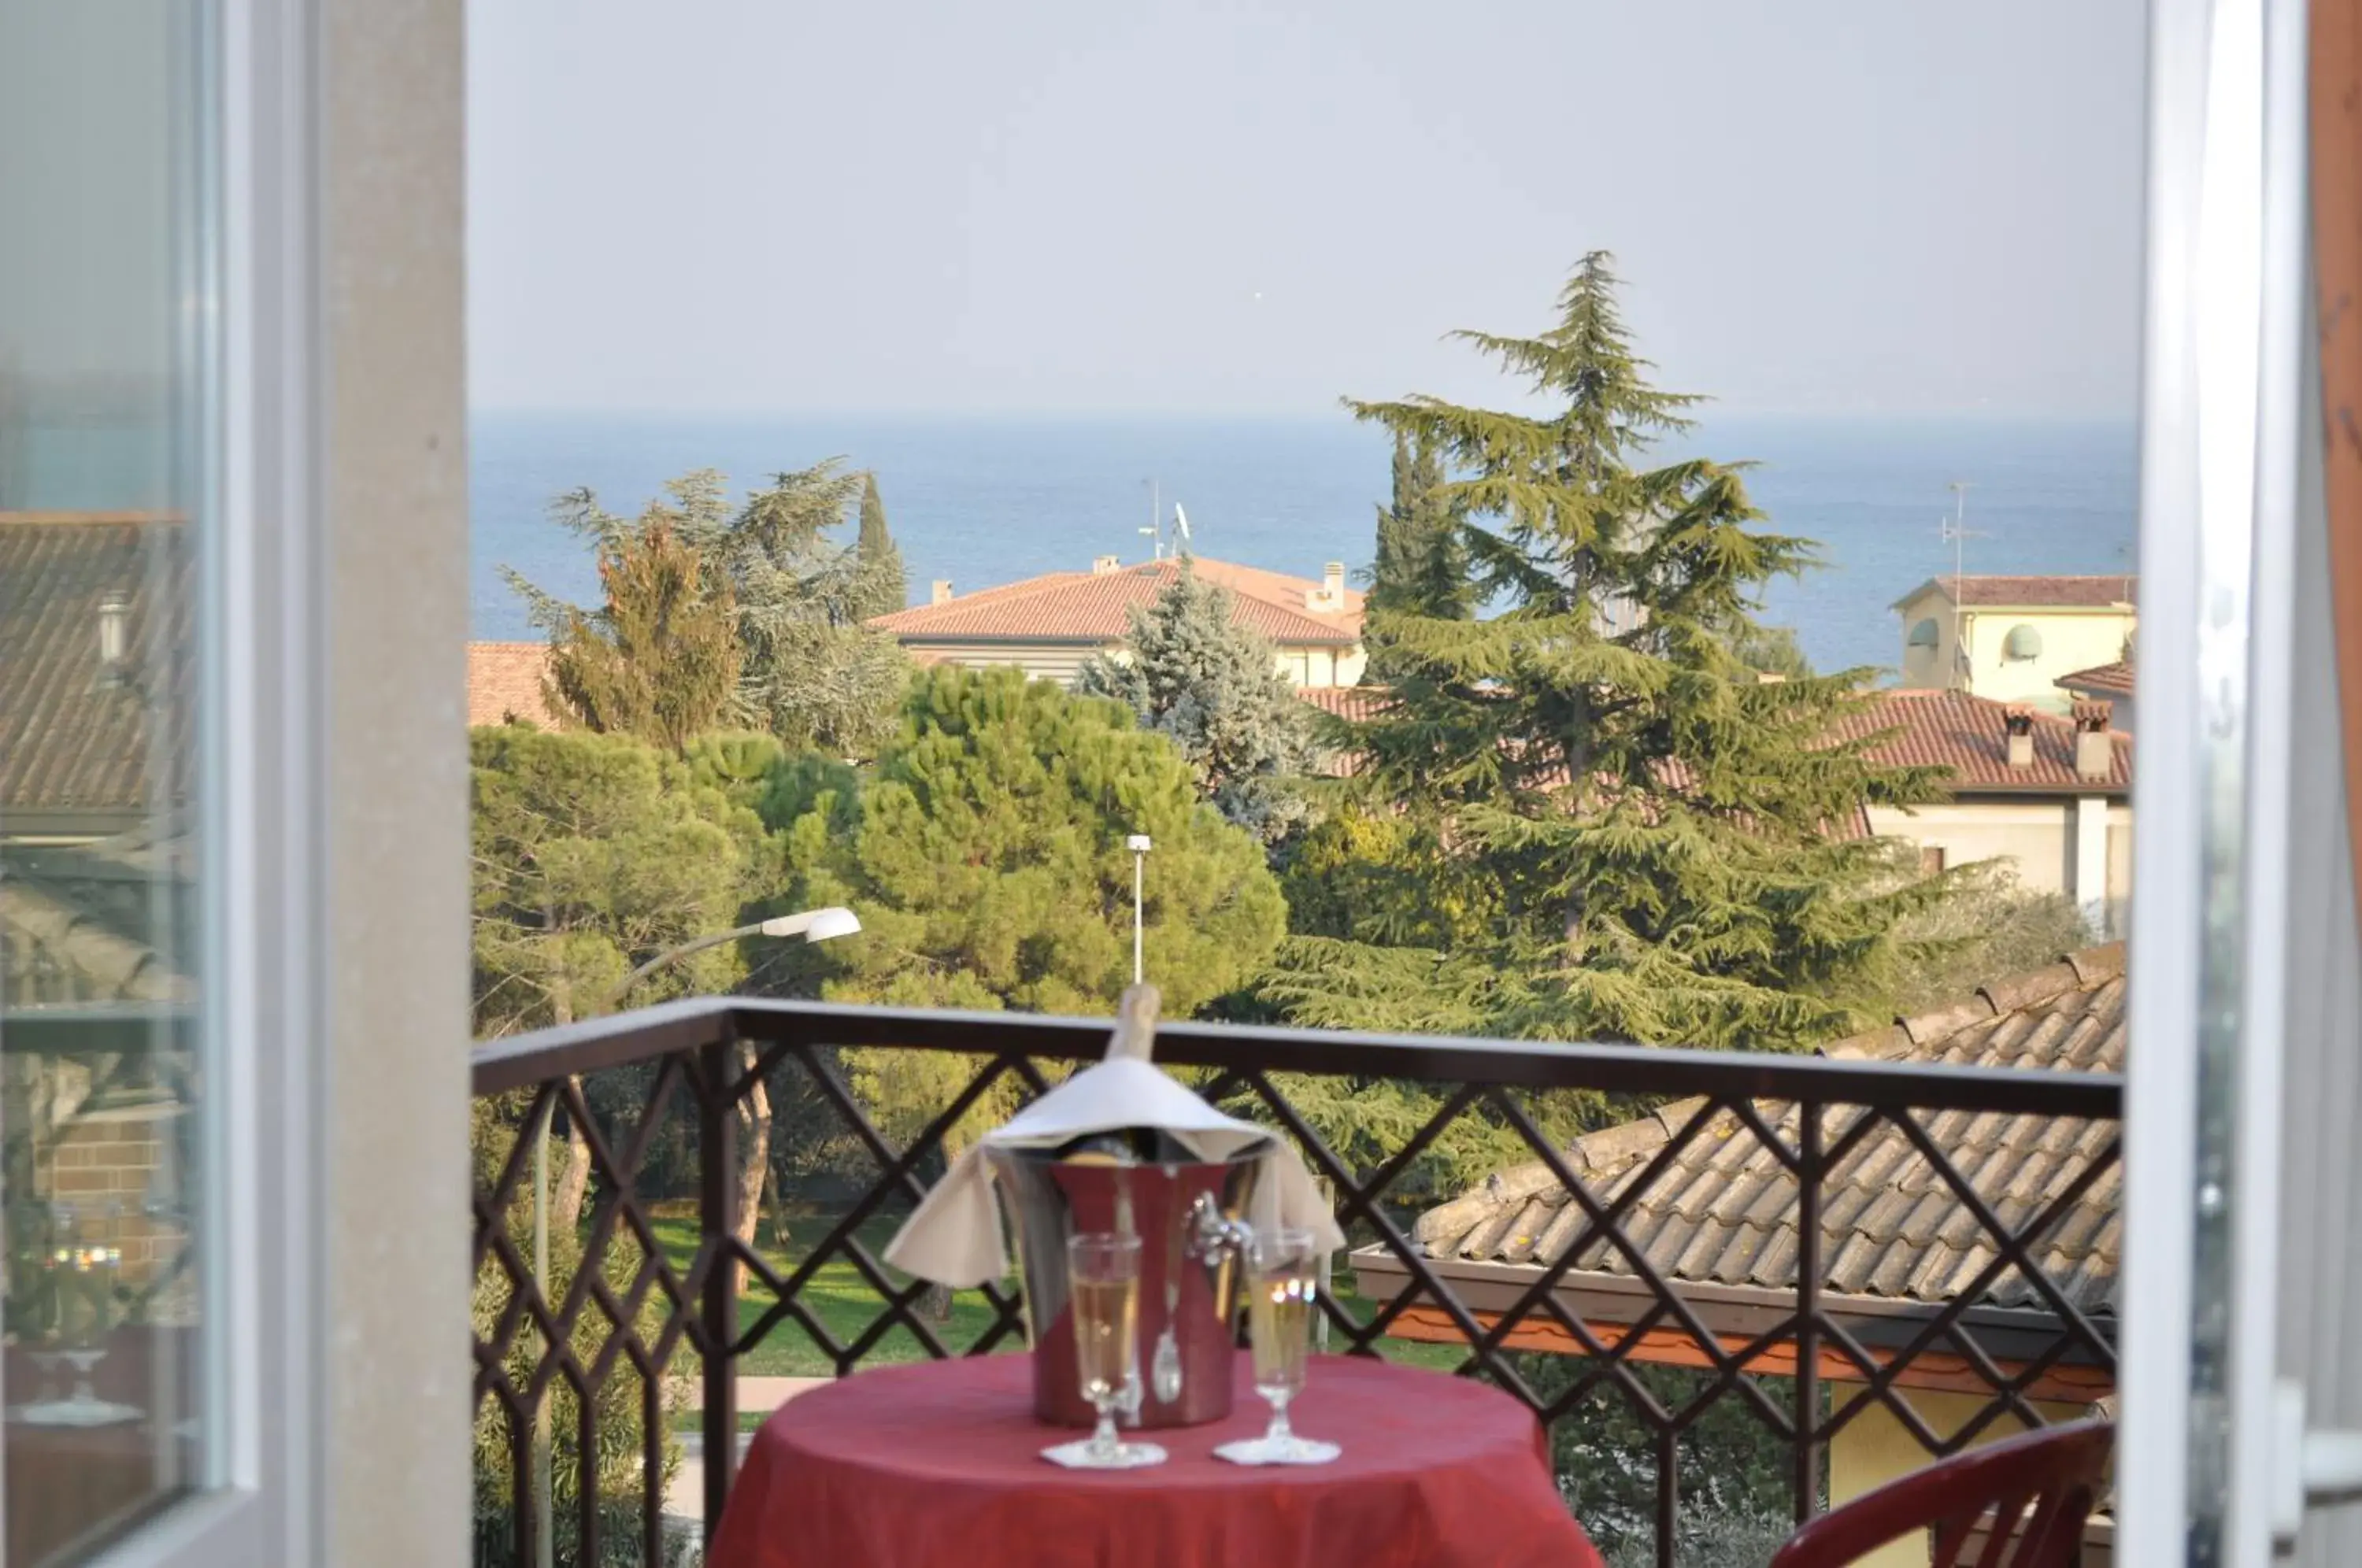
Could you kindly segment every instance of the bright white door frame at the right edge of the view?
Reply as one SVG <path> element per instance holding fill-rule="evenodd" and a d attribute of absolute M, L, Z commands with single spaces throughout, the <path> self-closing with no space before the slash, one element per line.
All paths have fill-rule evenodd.
<path fill-rule="evenodd" d="M 2303 0 L 2152 0 L 2123 1563 L 2270 1561 Z"/>

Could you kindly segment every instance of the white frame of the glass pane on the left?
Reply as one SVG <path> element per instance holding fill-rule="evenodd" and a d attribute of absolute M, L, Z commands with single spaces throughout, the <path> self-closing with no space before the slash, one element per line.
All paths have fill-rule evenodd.
<path fill-rule="evenodd" d="M 217 0 L 201 345 L 198 1488 L 106 1568 L 321 1561 L 319 425 L 307 0 Z"/>

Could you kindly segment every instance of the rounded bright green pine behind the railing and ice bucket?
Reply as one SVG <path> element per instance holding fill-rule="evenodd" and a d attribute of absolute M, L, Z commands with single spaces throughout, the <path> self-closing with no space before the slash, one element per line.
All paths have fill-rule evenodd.
<path fill-rule="evenodd" d="M 1198 798 L 1169 739 L 1011 668 L 926 671 L 869 777 L 789 765 L 763 812 L 791 897 L 862 919 L 860 942 L 808 954 L 834 1001 L 1113 1011 L 1131 980 L 1131 834 L 1155 841 L 1146 954 L 1169 1013 L 1240 987 L 1287 926 L 1261 845 Z M 931 1074 L 973 1072 L 862 1058 L 862 1093 L 895 1124 L 957 1091 Z"/>

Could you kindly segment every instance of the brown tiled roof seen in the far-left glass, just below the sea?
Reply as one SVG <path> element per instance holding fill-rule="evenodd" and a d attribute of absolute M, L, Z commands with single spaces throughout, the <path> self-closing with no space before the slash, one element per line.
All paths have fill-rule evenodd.
<path fill-rule="evenodd" d="M 132 664 L 151 671 L 146 697 L 111 682 L 99 659 L 109 597 L 123 600 Z M 194 597 L 177 517 L 0 512 L 0 817 L 151 812 L 187 796 L 194 725 L 170 725 L 156 777 L 154 720 L 191 711 Z"/>

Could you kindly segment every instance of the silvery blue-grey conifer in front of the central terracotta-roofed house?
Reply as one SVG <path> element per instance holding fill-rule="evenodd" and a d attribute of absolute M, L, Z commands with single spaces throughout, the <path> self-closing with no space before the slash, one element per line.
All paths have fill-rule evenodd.
<path fill-rule="evenodd" d="M 1155 602 L 1131 612 L 1124 656 L 1089 659 L 1075 690 L 1113 697 L 1143 730 L 1172 737 L 1214 810 L 1264 843 L 1304 824 L 1309 713 L 1271 642 L 1233 616 L 1231 590 L 1186 555 Z"/>

